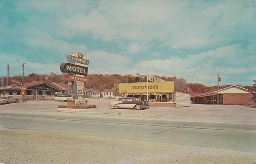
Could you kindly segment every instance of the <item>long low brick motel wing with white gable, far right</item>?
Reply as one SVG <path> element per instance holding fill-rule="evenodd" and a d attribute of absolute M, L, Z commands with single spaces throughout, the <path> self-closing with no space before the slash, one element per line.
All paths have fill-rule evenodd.
<path fill-rule="evenodd" d="M 253 94 L 246 88 L 232 85 L 205 93 L 191 93 L 194 104 L 253 105 Z"/>

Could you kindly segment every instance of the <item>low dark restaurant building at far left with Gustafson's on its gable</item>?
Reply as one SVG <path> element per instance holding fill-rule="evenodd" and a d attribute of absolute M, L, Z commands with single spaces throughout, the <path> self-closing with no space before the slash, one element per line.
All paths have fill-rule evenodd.
<path fill-rule="evenodd" d="M 51 100 L 55 96 L 55 92 L 60 90 L 48 82 L 27 82 L 24 99 L 26 100 Z M 20 85 L 12 84 L 0 87 L 0 96 L 12 95 L 22 99 Z"/>

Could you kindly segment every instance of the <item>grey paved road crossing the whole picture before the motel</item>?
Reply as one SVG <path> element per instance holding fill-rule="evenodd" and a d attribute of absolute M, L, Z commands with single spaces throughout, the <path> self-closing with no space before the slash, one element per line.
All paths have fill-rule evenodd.
<path fill-rule="evenodd" d="M 0 130 L 1 128 L 66 132 L 256 152 L 255 124 L 179 122 L 143 116 L 121 118 L 112 115 L 0 113 Z"/>

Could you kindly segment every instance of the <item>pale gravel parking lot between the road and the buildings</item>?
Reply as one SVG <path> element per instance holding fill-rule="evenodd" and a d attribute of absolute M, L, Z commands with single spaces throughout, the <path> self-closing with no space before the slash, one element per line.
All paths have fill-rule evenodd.
<path fill-rule="evenodd" d="M 140 114 L 157 115 L 172 120 L 200 121 L 200 122 L 233 122 L 256 124 L 256 108 L 240 105 L 199 105 L 191 104 L 190 107 L 150 107 L 146 110 L 113 109 L 109 102 L 113 99 L 88 99 L 88 104 L 97 105 L 96 109 L 84 109 L 79 113 L 112 113 L 112 114 Z M 58 105 L 67 102 L 53 101 L 27 101 L 0 105 L 0 112 L 26 112 L 57 111 Z"/>

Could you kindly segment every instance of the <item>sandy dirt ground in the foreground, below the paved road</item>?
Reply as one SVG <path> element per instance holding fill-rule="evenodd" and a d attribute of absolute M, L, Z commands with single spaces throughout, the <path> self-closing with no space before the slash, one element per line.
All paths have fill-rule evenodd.
<path fill-rule="evenodd" d="M 0 129 L 0 145 L 0 162 L 4 164 L 256 162 L 255 153 L 242 151 L 33 130 Z"/>

